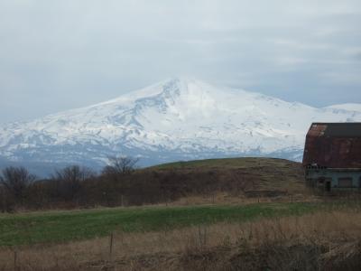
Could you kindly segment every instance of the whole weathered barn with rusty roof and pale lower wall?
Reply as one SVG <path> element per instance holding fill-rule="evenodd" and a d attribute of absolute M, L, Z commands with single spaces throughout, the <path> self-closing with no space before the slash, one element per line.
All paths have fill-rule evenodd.
<path fill-rule="evenodd" d="M 302 165 L 310 187 L 361 191 L 361 123 L 312 123 Z"/>

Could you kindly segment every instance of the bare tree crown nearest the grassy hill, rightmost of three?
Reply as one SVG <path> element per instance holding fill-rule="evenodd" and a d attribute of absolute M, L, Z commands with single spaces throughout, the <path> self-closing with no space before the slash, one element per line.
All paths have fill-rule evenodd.
<path fill-rule="evenodd" d="M 134 166 L 139 162 L 139 158 L 132 156 L 109 156 L 108 165 L 103 169 L 103 174 L 125 175 L 134 172 Z"/>

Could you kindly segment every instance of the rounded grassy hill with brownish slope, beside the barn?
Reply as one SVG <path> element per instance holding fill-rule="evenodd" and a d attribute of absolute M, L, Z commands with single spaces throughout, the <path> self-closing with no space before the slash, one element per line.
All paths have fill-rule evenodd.
<path fill-rule="evenodd" d="M 172 172 L 181 174 L 186 179 L 197 178 L 198 182 L 205 179 L 208 180 L 208 185 L 218 184 L 220 190 L 242 192 L 249 197 L 305 192 L 301 164 L 284 159 L 207 159 L 160 164 L 147 168 L 146 171 Z M 213 185 L 215 186 L 217 185 Z"/>

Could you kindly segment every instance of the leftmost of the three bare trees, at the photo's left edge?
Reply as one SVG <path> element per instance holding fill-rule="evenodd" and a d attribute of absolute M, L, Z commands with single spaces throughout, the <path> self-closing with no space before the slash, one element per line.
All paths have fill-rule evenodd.
<path fill-rule="evenodd" d="M 2 171 L 0 183 L 16 201 L 23 201 L 26 190 L 35 179 L 35 175 L 29 173 L 23 166 L 9 166 Z"/>

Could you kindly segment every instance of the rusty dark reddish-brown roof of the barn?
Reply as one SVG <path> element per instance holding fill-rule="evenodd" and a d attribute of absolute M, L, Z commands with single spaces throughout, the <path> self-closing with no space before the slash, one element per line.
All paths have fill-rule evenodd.
<path fill-rule="evenodd" d="M 313 123 L 306 135 L 302 164 L 361 168 L 361 123 Z"/>

